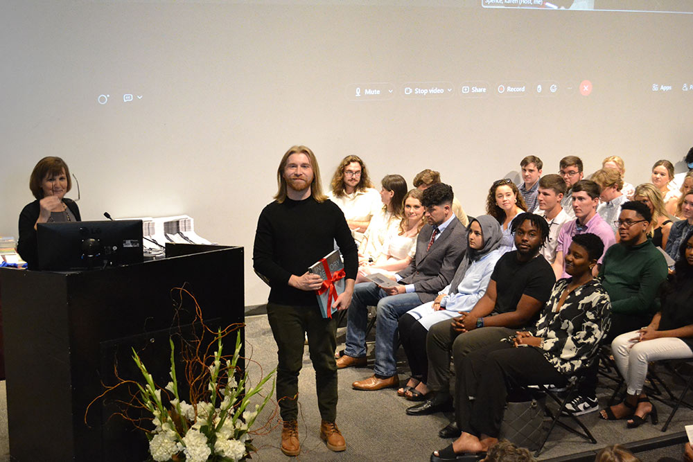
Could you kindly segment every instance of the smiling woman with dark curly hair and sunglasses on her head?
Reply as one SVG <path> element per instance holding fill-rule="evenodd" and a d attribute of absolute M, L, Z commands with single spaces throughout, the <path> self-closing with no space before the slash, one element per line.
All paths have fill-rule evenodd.
<path fill-rule="evenodd" d="M 500 223 L 503 236 L 500 240 L 500 251 L 505 253 L 515 249 L 515 242 L 510 231 L 510 224 L 518 213 L 526 210 L 525 199 L 520 190 L 509 179 L 493 181 L 489 195 L 486 197 L 486 213 Z"/>

